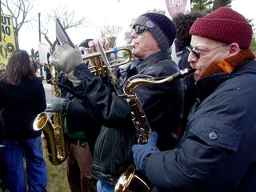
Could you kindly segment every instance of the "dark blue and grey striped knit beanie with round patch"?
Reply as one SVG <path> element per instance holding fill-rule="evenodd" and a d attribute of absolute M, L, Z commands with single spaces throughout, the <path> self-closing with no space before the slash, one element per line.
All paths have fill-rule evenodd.
<path fill-rule="evenodd" d="M 168 50 L 176 37 L 176 26 L 164 14 L 142 14 L 134 26 L 144 26 L 150 30 L 162 50 Z"/>

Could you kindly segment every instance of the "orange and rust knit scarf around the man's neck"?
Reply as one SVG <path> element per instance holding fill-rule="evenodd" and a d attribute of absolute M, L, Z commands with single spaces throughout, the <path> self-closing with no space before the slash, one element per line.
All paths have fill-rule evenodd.
<path fill-rule="evenodd" d="M 241 50 L 238 54 L 232 57 L 222 58 L 218 61 L 212 62 L 204 74 L 202 74 L 202 78 L 209 76 L 210 74 L 218 74 L 223 72 L 230 74 L 236 67 L 242 66 L 254 58 L 255 55 L 250 49 Z"/>

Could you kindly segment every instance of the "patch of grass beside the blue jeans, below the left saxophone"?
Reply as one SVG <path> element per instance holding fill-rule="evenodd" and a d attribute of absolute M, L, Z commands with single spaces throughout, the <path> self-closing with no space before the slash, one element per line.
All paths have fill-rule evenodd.
<path fill-rule="evenodd" d="M 66 164 L 65 162 L 59 166 L 54 166 L 46 158 L 45 161 L 47 166 L 47 191 L 48 192 L 70 192 L 70 187 L 66 178 Z"/>

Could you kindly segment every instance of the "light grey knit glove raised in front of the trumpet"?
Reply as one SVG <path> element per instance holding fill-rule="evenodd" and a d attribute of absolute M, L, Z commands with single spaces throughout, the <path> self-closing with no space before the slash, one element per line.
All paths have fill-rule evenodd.
<path fill-rule="evenodd" d="M 75 66 L 82 63 L 82 56 L 80 50 L 74 49 L 66 42 L 57 47 L 54 54 L 50 56 L 49 62 L 56 70 L 62 70 L 65 74 L 68 74 L 74 70 Z"/>

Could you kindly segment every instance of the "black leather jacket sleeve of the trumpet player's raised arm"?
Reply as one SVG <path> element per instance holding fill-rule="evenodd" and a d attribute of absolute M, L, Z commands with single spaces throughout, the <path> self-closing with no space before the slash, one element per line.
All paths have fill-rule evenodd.
<path fill-rule="evenodd" d="M 82 79 L 82 105 L 90 110 L 95 119 L 103 126 L 113 128 L 131 125 L 131 110 L 126 98 L 112 92 L 110 86 L 104 85 L 102 78 L 95 77 L 83 64 L 75 68 L 74 75 Z"/>

